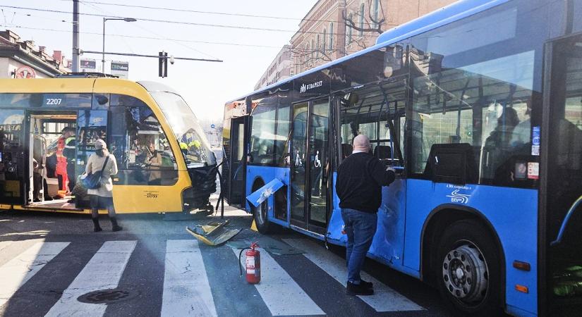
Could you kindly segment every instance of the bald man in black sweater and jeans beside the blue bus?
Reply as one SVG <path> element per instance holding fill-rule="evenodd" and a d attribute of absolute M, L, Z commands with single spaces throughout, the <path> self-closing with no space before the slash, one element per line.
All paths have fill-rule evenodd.
<path fill-rule="evenodd" d="M 341 218 L 348 235 L 346 294 L 374 294 L 371 282 L 360 278 L 360 270 L 376 233 L 377 211 L 382 201 L 382 186 L 394 182 L 396 175 L 370 154 L 370 139 L 358 135 L 353 139 L 353 152 L 337 170 L 336 192 Z"/>

